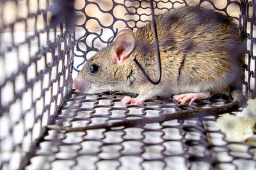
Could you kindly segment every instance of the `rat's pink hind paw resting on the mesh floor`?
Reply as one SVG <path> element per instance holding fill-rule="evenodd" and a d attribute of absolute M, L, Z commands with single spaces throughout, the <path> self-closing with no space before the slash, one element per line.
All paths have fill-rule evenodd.
<path fill-rule="evenodd" d="M 188 93 L 188 94 L 180 94 L 173 96 L 173 99 L 180 102 L 180 104 L 186 103 L 186 101 L 189 101 L 189 105 L 192 104 L 193 101 L 196 99 L 207 99 L 208 97 L 211 97 L 209 92 L 200 92 L 200 93 Z"/>

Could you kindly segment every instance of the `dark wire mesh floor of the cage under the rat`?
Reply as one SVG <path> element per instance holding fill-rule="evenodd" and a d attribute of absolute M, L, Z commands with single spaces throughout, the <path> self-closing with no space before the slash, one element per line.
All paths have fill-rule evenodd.
<path fill-rule="evenodd" d="M 159 99 L 133 106 L 122 103 L 122 97 L 84 96 L 73 91 L 51 127 L 84 127 L 157 117 L 175 110 L 230 102 L 210 99 L 188 106 Z M 254 137 L 247 143 L 228 142 L 215 122 L 216 117 L 198 117 L 85 132 L 52 129 L 45 134 L 26 169 L 255 169 Z"/>

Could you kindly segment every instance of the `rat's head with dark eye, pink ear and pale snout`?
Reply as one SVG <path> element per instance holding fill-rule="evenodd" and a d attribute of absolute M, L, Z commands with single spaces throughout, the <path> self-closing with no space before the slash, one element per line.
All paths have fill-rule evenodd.
<path fill-rule="evenodd" d="M 114 43 L 89 59 L 74 80 L 73 87 L 85 93 L 122 90 L 124 66 L 134 48 L 132 31 L 118 32 Z"/>

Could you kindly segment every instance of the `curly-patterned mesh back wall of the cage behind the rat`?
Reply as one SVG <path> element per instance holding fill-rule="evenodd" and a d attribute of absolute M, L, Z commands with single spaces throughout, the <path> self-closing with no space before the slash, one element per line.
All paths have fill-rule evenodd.
<path fill-rule="evenodd" d="M 152 20 L 149 1 L 77 1 L 80 17 L 76 25 L 77 46 L 74 58 L 74 75 L 102 46 L 113 41 L 118 29 L 136 30 Z M 215 3 L 214 3 L 215 2 Z M 222 11 L 239 20 L 240 3 L 237 1 L 154 1 L 155 14 L 185 5 L 198 5 Z"/>

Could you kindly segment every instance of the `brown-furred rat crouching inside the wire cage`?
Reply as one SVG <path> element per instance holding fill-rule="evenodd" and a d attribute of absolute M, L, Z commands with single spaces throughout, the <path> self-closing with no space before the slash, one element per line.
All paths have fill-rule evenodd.
<path fill-rule="evenodd" d="M 162 67 L 159 84 L 150 83 L 132 60 L 136 57 L 150 78 L 157 80 L 156 44 L 149 23 L 136 32 L 119 31 L 113 43 L 84 64 L 73 82 L 74 89 L 87 94 L 131 92 L 138 97 L 125 96 L 122 102 L 135 105 L 156 96 L 174 95 L 180 104 L 192 104 L 196 99 L 226 94 L 234 101 L 219 106 L 217 112 L 242 106 L 244 46 L 232 17 L 185 6 L 157 15 L 156 29 Z"/>

